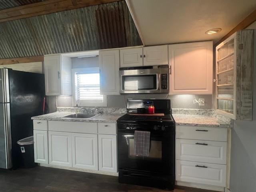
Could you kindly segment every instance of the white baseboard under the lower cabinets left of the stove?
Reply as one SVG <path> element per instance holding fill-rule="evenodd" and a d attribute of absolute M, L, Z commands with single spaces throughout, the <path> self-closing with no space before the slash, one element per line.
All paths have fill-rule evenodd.
<path fill-rule="evenodd" d="M 51 167 L 51 168 L 57 168 L 57 169 L 66 169 L 66 170 L 72 170 L 72 171 L 80 171 L 80 172 L 95 173 L 95 174 L 102 174 L 102 175 L 118 176 L 118 173 L 98 171 L 98 170 L 80 169 L 80 168 L 74 168 L 74 167 L 65 167 L 65 166 L 50 165 L 50 164 L 43 164 L 43 163 L 38 163 L 38 165 L 42 166 L 42 167 Z"/>

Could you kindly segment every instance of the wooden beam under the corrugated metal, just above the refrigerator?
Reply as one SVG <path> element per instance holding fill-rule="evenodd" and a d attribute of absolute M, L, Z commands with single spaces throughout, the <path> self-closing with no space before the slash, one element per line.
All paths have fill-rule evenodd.
<path fill-rule="evenodd" d="M 9 65 L 9 64 L 17 64 L 17 63 L 31 63 L 31 62 L 43 62 L 43 61 L 44 61 L 44 56 L 10 58 L 10 59 L 0 59 L 0 65 Z"/>

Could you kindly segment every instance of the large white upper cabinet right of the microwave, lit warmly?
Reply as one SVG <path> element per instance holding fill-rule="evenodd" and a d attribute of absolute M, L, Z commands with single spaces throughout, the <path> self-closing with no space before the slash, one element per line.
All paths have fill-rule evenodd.
<path fill-rule="evenodd" d="M 170 94 L 212 94 L 212 41 L 168 45 Z"/>

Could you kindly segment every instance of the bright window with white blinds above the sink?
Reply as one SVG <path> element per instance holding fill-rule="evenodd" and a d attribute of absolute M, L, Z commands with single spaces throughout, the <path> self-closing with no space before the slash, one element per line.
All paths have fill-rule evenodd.
<path fill-rule="evenodd" d="M 75 102 L 80 106 L 104 103 L 100 94 L 100 73 L 98 68 L 76 69 L 74 71 Z"/>

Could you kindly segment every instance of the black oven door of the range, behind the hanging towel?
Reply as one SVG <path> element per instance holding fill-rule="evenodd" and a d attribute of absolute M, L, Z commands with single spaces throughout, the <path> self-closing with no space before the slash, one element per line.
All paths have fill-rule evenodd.
<path fill-rule="evenodd" d="M 118 130 L 118 169 L 174 175 L 175 133 L 150 131 L 149 156 L 134 154 L 134 130 Z"/>

